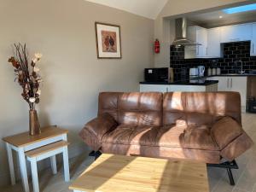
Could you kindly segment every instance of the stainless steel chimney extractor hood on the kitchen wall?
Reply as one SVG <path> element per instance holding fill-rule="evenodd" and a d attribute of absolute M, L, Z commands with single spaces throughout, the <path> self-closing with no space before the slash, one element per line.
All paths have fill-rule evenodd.
<path fill-rule="evenodd" d="M 176 31 L 176 35 L 172 45 L 176 45 L 176 46 L 201 45 L 201 44 L 196 44 L 194 41 L 189 40 L 187 38 L 187 19 L 186 18 L 183 17 L 175 20 L 175 31 Z"/>

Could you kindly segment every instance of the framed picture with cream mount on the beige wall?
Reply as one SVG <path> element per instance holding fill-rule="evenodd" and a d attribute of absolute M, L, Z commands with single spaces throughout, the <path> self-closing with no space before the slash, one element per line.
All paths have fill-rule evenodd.
<path fill-rule="evenodd" d="M 107 23 L 95 23 L 96 49 L 99 59 L 120 59 L 121 38 L 120 26 Z"/>

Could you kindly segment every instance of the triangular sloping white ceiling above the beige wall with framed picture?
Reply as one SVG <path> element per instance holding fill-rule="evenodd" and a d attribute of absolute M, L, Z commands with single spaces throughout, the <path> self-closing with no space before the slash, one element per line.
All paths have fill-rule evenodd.
<path fill-rule="evenodd" d="M 168 0 L 86 0 L 115 9 L 125 10 L 132 14 L 155 19 Z"/>

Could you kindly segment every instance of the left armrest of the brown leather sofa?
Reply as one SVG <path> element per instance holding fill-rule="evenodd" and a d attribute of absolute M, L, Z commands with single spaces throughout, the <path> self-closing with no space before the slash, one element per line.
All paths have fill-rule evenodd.
<path fill-rule="evenodd" d="M 99 150 L 102 147 L 102 137 L 113 131 L 118 123 L 108 113 L 102 113 L 96 119 L 90 120 L 84 125 L 84 128 L 79 132 L 84 143 L 89 145 L 94 150 Z"/>

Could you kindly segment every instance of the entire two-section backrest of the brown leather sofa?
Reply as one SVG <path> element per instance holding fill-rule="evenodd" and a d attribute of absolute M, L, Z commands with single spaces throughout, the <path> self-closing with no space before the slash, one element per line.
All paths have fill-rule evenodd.
<path fill-rule="evenodd" d="M 241 125 L 237 92 L 102 92 L 98 113 L 125 125 L 209 125 L 230 116 Z"/>

